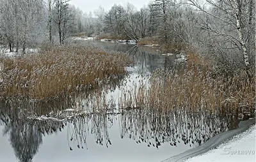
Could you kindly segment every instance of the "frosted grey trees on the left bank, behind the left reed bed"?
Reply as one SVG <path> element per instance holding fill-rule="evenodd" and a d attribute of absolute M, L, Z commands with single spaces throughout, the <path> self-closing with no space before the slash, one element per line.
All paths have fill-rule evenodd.
<path fill-rule="evenodd" d="M 86 14 L 69 0 L 0 0 L 0 44 L 10 52 L 43 41 L 64 44 L 70 34 L 90 31 L 92 13 Z"/>

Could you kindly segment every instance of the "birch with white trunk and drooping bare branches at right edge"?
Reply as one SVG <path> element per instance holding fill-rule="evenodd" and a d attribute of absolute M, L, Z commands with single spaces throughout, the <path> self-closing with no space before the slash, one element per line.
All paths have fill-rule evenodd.
<path fill-rule="evenodd" d="M 220 39 L 222 44 L 220 48 L 231 49 L 232 52 L 235 49 L 239 50 L 243 55 L 244 68 L 251 78 L 253 59 L 250 59 L 250 55 L 255 57 L 255 47 L 252 47 L 255 44 L 255 11 L 252 10 L 255 8 L 255 2 L 250 0 L 207 0 L 206 2 L 208 9 L 199 1 L 188 1 L 191 6 L 204 14 L 199 25 L 208 34 Z M 225 46 L 223 42 L 226 42 Z"/>

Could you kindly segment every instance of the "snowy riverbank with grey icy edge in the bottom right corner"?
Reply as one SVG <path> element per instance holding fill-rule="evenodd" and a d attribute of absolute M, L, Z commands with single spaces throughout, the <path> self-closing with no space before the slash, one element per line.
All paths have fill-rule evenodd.
<path fill-rule="evenodd" d="M 250 132 L 250 133 L 248 133 L 248 134 L 245 133 L 245 135 L 248 135 L 248 137 L 250 137 L 250 138 L 253 137 L 253 133 L 251 133 L 251 131 L 254 130 L 254 132 L 255 132 L 255 118 L 249 119 L 248 121 L 241 121 L 239 123 L 239 128 L 233 129 L 233 130 L 230 130 L 230 131 L 226 131 L 226 132 L 220 133 L 216 136 L 213 136 L 210 140 L 205 142 L 205 144 L 200 145 L 199 147 L 196 147 L 194 149 L 190 149 L 190 150 L 188 150 L 186 152 L 183 152 L 182 154 L 179 154 L 177 156 L 173 156 L 172 158 L 166 159 L 163 162 L 168 162 L 168 161 L 170 161 L 170 162 L 183 162 L 186 159 L 189 159 L 189 158 L 194 157 L 194 156 L 198 156 L 200 154 L 204 154 L 204 152 L 210 151 L 212 149 L 215 149 L 215 150 L 213 150 L 213 152 L 215 152 L 215 154 L 211 154 L 211 156 L 209 156 L 209 155 L 207 156 L 207 154 L 205 154 L 204 157 L 199 156 L 199 157 L 196 157 L 196 158 L 189 159 L 186 162 L 207 161 L 207 160 L 211 159 L 211 157 L 213 157 L 213 156 L 215 158 L 216 157 L 221 158 L 220 160 L 225 161 L 226 158 L 223 157 L 223 156 L 230 156 L 230 155 L 225 154 L 225 153 L 227 153 L 227 151 L 225 151 L 225 147 L 227 147 L 227 148 L 231 147 L 232 151 L 235 151 L 235 150 L 237 151 L 239 149 L 243 150 L 244 147 L 239 147 L 239 145 L 234 145 L 234 144 L 243 145 L 243 141 L 246 139 L 246 136 L 245 136 L 245 138 L 239 138 L 239 139 L 235 140 L 234 143 L 228 142 L 227 145 L 225 145 L 224 142 L 227 142 L 227 140 L 230 140 L 230 138 L 233 138 L 233 137 L 237 138 L 237 136 L 239 136 L 239 133 L 243 133 L 246 130 L 248 130 L 248 132 Z M 253 142 L 255 144 L 255 133 L 254 133 L 254 141 Z M 220 145 L 220 147 L 218 147 L 219 145 Z M 218 148 L 218 151 L 216 151 L 216 148 Z M 224 150 L 223 150 L 223 148 L 224 148 Z M 254 151 L 255 151 L 255 147 L 254 147 Z M 216 154 L 217 152 L 220 153 L 220 154 L 222 152 L 223 154 L 222 155 L 220 155 L 220 154 L 217 155 Z M 224 158 L 224 159 L 222 159 L 222 158 Z M 233 157 L 233 158 L 235 158 L 235 157 Z M 255 156 L 254 156 L 254 158 L 255 158 Z M 229 157 L 228 161 L 233 161 L 232 159 L 230 159 L 230 157 Z"/>

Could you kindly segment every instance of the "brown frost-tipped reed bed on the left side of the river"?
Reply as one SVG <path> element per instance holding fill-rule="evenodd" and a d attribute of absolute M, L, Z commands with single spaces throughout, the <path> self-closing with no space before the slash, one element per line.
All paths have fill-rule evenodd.
<path fill-rule="evenodd" d="M 130 64 L 124 54 L 76 45 L 47 47 L 39 54 L 0 59 L 4 64 L 0 95 L 4 98 L 45 99 L 82 91 L 124 75 L 125 66 Z"/>

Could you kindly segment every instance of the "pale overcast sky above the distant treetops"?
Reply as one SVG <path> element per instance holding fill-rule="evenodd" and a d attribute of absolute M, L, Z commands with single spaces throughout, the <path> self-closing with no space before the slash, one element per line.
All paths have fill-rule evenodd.
<path fill-rule="evenodd" d="M 80 8 L 83 12 L 89 13 L 90 11 L 97 10 L 99 6 L 102 6 L 105 11 L 111 9 L 114 4 L 126 4 L 132 3 L 139 10 L 144 5 L 147 5 L 150 0 L 71 0 L 70 4 L 74 4 Z"/>

